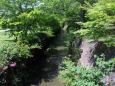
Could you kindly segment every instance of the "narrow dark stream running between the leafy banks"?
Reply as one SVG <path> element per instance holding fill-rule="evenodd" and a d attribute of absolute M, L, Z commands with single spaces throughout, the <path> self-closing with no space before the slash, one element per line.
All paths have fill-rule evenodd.
<path fill-rule="evenodd" d="M 41 77 L 44 78 L 42 78 L 39 84 L 31 84 L 31 86 L 65 86 L 58 79 L 59 64 L 61 64 L 62 58 L 67 54 L 65 41 L 66 32 L 63 28 L 56 37 L 55 42 L 50 45 L 50 57 L 47 59 L 47 65 L 42 70 L 45 71 L 45 73 L 41 75 Z"/>

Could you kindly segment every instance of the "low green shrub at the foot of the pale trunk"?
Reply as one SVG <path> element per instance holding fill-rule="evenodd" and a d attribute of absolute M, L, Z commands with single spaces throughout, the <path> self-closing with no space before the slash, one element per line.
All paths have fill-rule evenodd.
<path fill-rule="evenodd" d="M 76 67 L 70 59 L 66 58 L 60 66 L 59 78 L 66 86 L 105 86 L 101 80 L 104 75 L 112 73 L 115 60 L 105 61 L 103 55 L 101 58 L 95 57 L 96 66 L 90 69 Z"/>

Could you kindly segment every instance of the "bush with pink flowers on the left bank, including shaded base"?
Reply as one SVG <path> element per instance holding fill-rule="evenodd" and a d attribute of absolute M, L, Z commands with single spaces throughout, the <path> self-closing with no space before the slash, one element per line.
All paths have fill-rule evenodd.
<path fill-rule="evenodd" d="M 23 60 L 32 57 L 30 53 L 30 47 L 23 43 L 5 43 L 0 46 L 0 84 L 16 84 L 19 82 L 17 79 L 20 77 L 17 75 L 25 65 Z M 23 71 L 24 72 L 24 71 Z M 20 80 L 21 81 L 21 80 Z M 10 85 L 12 86 L 12 85 Z M 16 85 L 15 85 L 16 86 Z"/>

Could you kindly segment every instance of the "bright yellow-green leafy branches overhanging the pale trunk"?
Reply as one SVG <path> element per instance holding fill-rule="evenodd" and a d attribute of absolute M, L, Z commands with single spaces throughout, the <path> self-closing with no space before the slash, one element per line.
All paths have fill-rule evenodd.
<path fill-rule="evenodd" d="M 87 4 L 87 22 L 78 22 L 82 29 L 77 31 L 82 36 L 103 41 L 108 45 L 115 44 L 115 1 L 99 0 L 93 6 Z M 75 32 L 76 33 L 76 32 Z"/>

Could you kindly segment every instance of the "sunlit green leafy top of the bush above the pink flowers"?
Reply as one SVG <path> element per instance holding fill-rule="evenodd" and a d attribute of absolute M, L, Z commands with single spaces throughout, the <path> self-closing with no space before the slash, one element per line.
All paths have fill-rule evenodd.
<path fill-rule="evenodd" d="M 8 66 L 10 64 L 9 59 L 12 58 L 18 61 L 22 58 L 28 58 L 31 56 L 30 48 L 28 45 L 5 43 L 0 46 L 0 67 Z"/>

